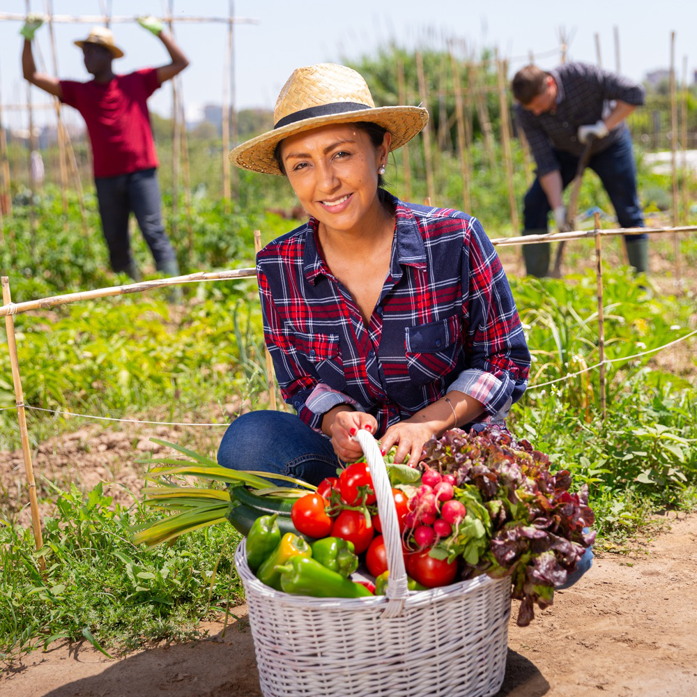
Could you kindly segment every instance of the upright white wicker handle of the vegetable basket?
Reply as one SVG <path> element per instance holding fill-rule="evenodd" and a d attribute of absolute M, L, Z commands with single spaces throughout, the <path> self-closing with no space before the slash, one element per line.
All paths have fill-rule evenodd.
<path fill-rule="evenodd" d="M 388 477 L 388 470 L 385 467 L 385 460 L 372 434 L 369 434 L 365 429 L 359 429 L 353 438 L 362 447 L 370 469 L 370 475 L 373 479 L 375 496 L 378 501 L 378 514 L 380 515 L 380 523 L 383 528 L 388 569 L 390 569 L 386 593 L 388 604 L 383 612 L 383 617 L 397 617 L 401 613 L 404 601 L 409 595 L 409 589 L 406 585 L 406 569 L 404 568 L 404 556 L 401 549 L 397 508 L 395 507 L 395 500 L 392 498 L 392 485 L 390 484 L 390 477 Z"/>

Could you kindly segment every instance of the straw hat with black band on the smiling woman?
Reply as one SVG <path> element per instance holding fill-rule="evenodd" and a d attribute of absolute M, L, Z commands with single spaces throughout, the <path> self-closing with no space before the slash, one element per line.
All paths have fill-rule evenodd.
<path fill-rule="evenodd" d="M 284 138 L 328 123 L 370 121 L 392 134 L 390 150 L 410 141 L 429 121 L 422 107 L 376 107 L 358 72 L 335 63 L 297 68 L 284 84 L 273 110 L 273 130 L 248 140 L 230 161 L 263 174 L 282 174 L 273 153 Z"/>

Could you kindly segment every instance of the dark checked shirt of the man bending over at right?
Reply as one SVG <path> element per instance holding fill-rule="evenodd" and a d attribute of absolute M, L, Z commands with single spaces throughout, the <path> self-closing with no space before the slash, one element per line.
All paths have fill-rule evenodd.
<path fill-rule="evenodd" d="M 557 84 L 557 105 L 551 112 L 535 116 L 520 104 L 515 105 L 516 118 L 523 128 L 537 162 L 537 176 L 559 169 L 554 148 L 580 156 L 579 126 L 596 123 L 613 109 L 611 100 L 631 105 L 644 103 L 643 86 L 615 72 L 585 63 L 565 63 L 549 74 Z M 596 140 L 591 153 L 601 153 L 627 131 L 622 121 L 604 138 Z"/>

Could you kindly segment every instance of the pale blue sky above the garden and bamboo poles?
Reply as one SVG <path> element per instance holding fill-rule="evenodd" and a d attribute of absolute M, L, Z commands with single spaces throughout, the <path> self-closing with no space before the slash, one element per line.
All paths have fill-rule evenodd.
<path fill-rule="evenodd" d="M 54 15 L 100 15 L 111 7 L 114 16 L 162 16 L 169 0 L 29 0 L 33 12 L 47 4 Z M 174 16 L 227 17 L 226 0 L 172 0 Z M 0 0 L 0 13 L 24 13 L 26 0 Z M 668 68 L 671 31 L 675 31 L 675 67 L 682 79 L 687 59 L 689 82 L 697 69 L 697 2 L 694 0 L 236 0 L 234 16 L 257 20 L 240 23 L 235 43 L 235 97 L 238 108 L 273 108 L 276 96 L 293 69 L 321 62 L 340 62 L 375 54 L 393 40 L 405 47 L 443 47 L 445 38 L 464 40 L 468 51 L 498 47 L 510 59 L 512 77 L 528 62 L 549 69 L 559 62 L 560 31 L 570 38 L 567 59 L 597 62 L 599 36 L 602 66 L 615 70 L 615 27 L 619 36 L 620 72 L 642 80 L 650 70 Z M 0 99 L 3 121 L 26 124 L 26 114 L 10 105 L 26 102 L 20 54 L 22 22 L 0 20 Z M 89 24 L 55 25 L 58 75 L 87 79 L 82 52 L 72 41 L 89 33 Z M 114 61 L 116 72 L 158 66 L 167 52 L 151 33 L 135 22 L 114 23 L 112 30 L 125 57 Z M 220 104 L 227 49 L 227 24 L 176 24 L 175 36 L 190 66 L 182 73 L 187 119 L 197 118 L 205 104 Z M 47 27 L 36 35 L 47 72 L 55 74 Z M 39 67 L 40 64 L 39 64 Z M 32 88 L 33 102 L 47 103 L 45 93 Z M 171 89 L 156 91 L 149 101 L 153 112 L 169 115 Z M 72 109 L 64 109 L 65 112 Z M 39 123 L 52 121 L 52 112 L 38 112 Z M 79 116 L 74 114 L 79 122 Z"/>

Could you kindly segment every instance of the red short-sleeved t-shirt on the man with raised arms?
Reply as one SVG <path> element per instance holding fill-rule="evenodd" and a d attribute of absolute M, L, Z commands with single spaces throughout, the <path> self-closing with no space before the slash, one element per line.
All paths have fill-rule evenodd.
<path fill-rule="evenodd" d="M 75 107 L 87 125 L 95 177 L 158 166 L 147 100 L 159 86 L 157 68 L 105 83 L 61 80 L 61 101 Z"/>

